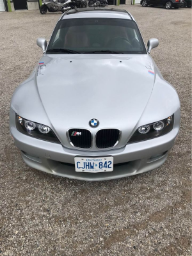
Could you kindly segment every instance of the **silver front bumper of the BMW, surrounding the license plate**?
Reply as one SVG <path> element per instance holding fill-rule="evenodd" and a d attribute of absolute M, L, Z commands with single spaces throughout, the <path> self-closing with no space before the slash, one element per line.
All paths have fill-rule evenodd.
<path fill-rule="evenodd" d="M 161 166 L 166 161 L 168 151 L 173 147 L 179 132 L 180 109 L 176 111 L 174 118 L 173 130 L 164 136 L 102 152 L 72 150 L 60 144 L 26 136 L 15 127 L 13 109 L 10 109 L 10 132 L 15 145 L 21 150 L 23 160 L 32 168 L 71 179 L 109 180 L 136 175 Z M 114 170 L 107 173 L 76 172 L 74 167 L 76 156 L 113 156 Z"/>

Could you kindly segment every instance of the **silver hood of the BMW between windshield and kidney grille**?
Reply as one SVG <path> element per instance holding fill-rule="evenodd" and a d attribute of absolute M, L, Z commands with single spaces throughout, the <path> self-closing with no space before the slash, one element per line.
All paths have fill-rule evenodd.
<path fill-rule="evenodd" d="M 36 84 L 54 131 L 60 138 L 70 128 L 95 131 L 89 121 L 97 118 L 97 130 L 113 127 L 131 133 L 154 86 L 152 59 L 147 54 L 80 55 L 44 56 L 38 65 Z"/>

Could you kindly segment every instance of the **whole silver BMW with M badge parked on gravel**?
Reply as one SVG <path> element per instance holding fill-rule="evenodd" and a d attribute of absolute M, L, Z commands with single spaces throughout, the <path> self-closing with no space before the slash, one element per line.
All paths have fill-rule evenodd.
<path fill-rule="evenodd" d="M 43 172 L 109 180 L 161 166 L 180 125 L 177 92 L 163 79 L 125 10 L 65 12 L 31 76 L 15 90 L 10 132 Z"/>

